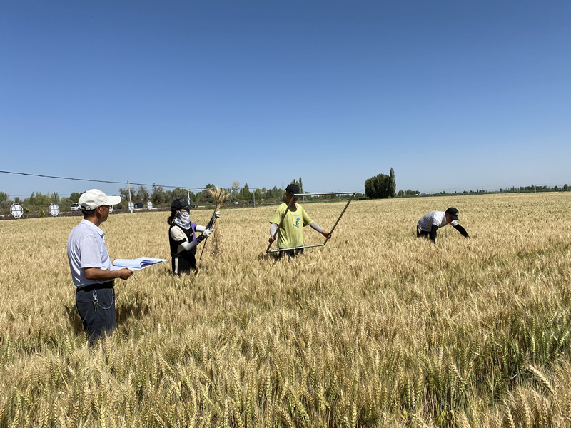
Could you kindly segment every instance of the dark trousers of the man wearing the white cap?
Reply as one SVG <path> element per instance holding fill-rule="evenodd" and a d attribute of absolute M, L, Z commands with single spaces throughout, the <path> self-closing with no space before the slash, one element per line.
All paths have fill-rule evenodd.
<path fill-rule="evenodd" d="M 115 330 L 113 281 L 78 288 L 76 307 L 84 324 L 89 345 L 94 345 L 105 333 Z"/>

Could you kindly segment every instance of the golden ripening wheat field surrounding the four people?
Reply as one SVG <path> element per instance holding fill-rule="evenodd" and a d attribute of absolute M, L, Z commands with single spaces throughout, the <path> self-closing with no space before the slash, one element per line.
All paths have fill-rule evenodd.
<path fill-rule="evenodd" d="M 470 239 L 415 238 L 450 205 Z M 343 206 L 305 208 L 327 230 Z M 0 426 L 571 426 L 569 193 L 354 201 L 295 260 L 265 254 L 274 208 L 223 208 L 196 277 L 169 274 L 168 213 L 110 215 L 112 260 L 169 262 L 116 280 L 93 348 L 66 258 L 81 218 L 0 222 Z"/>

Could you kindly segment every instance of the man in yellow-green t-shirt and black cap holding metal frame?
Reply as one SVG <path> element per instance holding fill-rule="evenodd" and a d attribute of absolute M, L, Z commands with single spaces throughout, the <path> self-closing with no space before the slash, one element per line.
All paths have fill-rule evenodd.
<path fill-rule="evenodd" d="M 307 225 L 317 230 L 321 235 L 325 236 L 325 238 L 331 238 L 331 234 L 325 232 L 317 223 L 311 220 L 308 213 L 305 213 L 303 207 L 297 203 L 298 198 L 294 196 L 296 193 L 299 193 L 298 185 L 288 185 L 288 187 L 285 188 L 285 203 L 282 203 L 276 208 L 276 211 L 270 219 L 269 242 L 273 243 L 273 241 L 276 240 L 274 235 L 283 217 L 283 213 L 285 213 L 285 210 L 290 206 L 288 213 L 285 214 L 285 218 L 281 222 L 281 225 L 279 225 L 278 233 L 278 248 L 290 248 L 290 250 L 281 251 L 279 253 L 280 256 L 282 253 L 286 253 L 290 257 L 294 257 L 296 254 L 303 253 L 303 248 L 298 247 L 303 247 L 303 228 Z M 290 205 L 292 199 L 293 203 Z"/>

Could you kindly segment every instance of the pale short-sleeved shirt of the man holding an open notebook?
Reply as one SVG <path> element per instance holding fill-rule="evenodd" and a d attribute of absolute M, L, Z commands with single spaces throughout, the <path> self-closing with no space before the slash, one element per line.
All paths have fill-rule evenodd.
<path fill-rule="evenodd" d="M 98 267 L 111 270 L 111 259 L 105 245 L 105 232 L 89 220 L 81 220 L 79 225 L 71 229 L 67 239 L 67 258 L 71 279 L 76 287 L 90 284 L 103 284 L 106 281 L 88 280 L 85 277 L 86 267 Z"/>

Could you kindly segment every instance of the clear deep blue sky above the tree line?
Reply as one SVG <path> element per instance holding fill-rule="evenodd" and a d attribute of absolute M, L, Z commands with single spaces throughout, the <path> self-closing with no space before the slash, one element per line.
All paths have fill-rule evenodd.
<path fill-rule="evenodd" d="M 0 170 L 312 192 L 571 181 L 569 1 L 4 1 Z M 123 185 L 0 173 L 16 195 Z"/>

